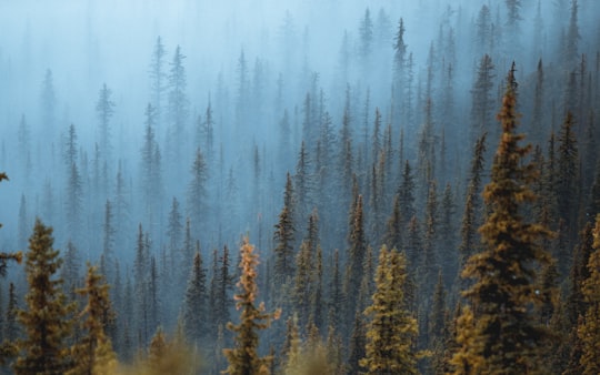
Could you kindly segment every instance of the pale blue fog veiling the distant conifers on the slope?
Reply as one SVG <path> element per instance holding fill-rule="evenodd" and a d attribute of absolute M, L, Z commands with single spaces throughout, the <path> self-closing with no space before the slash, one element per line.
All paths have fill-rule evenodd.
<path fill-rule="evenodd" d="M 423 215 L 428 184 L 436 180 L 439 194 L 451 186 L 458 223 L 472 140 L 479 135 L 472 125 L 473 87 L 486 53 L 494 68 L 484 122 L 496 124 L 503 79 L 514 61 L 523 130 L 542 148 L 569 109 L 569 77 L 581 71 L 582 57 L 589 91 L 596 90 L 600 7 L 596 0 L 577 3 L 577 32 L 570 32 L 572 2 L 567 0 L 522 0 L 514 23 L 504 1 L 483 0 L 0 0 L 0 171 L 10 178 L 0 184 L 0 249 L 24 251 L 39 216 L 53 226 L 57 247 L 72 241 L 81 262 L 98 262 L 103 254 L 111 264 L 118 261 L 124 274 L 134 259 L 139 225 L 157 259 L 182 245 L 183 234 L 176 240 L 169 234 L 177 199 L 180 224 L 190 217 L 204 264 L 213 250 L 237 249 L 242 235 L 269 260 L 286 174 L 298 175 L 304 141 L 312 182 L 310 196 L 299 203 L 297 240 L 318 207 L 329 259 L 348 246 L 352 189 L 351 179 L 340 176 L 344 145 L 339 142 L 344 114 L 352 134 L 352 172 L 366 196 L 373 195 L 371 169 L 378 165 L 373 139 L 381 145 L 390 126 L 386 196 L 367 217 L 374 227 L 369 239 L 374 249 L 406 160 L 416 171 L 429 168 L 429 174 L 422 172 L 429 180 L 417 179 L 417 215 Z M 489 17 L 480 27 L 482 6 Z M 367 27 L 366 19 L 371 22 Z M 398 78 L 400 19 L 407 51 Z M 159 38 L 164 52 L 157 90 L 152 70 Z M 184 59 L 176 83 L 178 48 Z M 536 118 L 532 95 L 540 59 L 547 83 L 543 110 Z M 400 82 L 396 91 L 394 82 Z M 578 82 L 588 84 L 587 74 Z M 104 84 L 103 128 L 99 98 Z M 598 97 L 586 97 L 587 107 L 577 114 L 580 123 L 588 110 L 600 118 Z M 154 108 L 150 135 L 149 104 Z M 326 112 L 331 143 L 323 138 Z M 533 129 L 533 120 L 541 128 Z M 423 155 L 419 139 L 428 131 L 431 152 Z M 488 165 L 496 135 L 490 131 Z M 330 149 L 323 156 L 326 143 Z M 206 172 L 194 180 L 198 150 Z M 12 270 L 10 277 L 19 272 Z"/>

